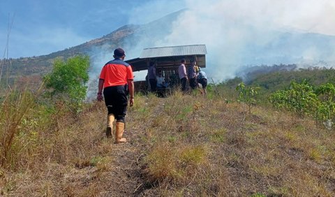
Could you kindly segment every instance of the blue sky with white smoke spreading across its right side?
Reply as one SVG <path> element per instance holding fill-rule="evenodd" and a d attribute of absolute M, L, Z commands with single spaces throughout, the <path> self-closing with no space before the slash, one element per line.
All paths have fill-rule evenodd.
<path fill-rule="evenodd" d="M 171 34 L 152 47 L 205 44 L 206 69 L 218 80 L 234 77 L 248 44 L 267 45 L 278 30 L 335 36 L 334 0 L 1 0 L 0 59 L 50 54 L 184 8 Z M 322 54 L 313 46 L 301 50 L 311 59 Z"/>

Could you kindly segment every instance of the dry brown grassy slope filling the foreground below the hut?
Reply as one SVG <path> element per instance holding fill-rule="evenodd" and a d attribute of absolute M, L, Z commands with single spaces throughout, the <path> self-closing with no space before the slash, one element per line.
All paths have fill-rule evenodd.
<path fill-rule="evenodd" d="M 177 93 L 135 102 L 125 145 L 104 138 L 103 103 L 79 117 L 60 110 L 47 126 L 29 124 L 17 139 L 15 168 L 2 170 L 1 194 L 335 195 L 334 130 L 269 108 L 246 115 L 240 103 L 218 98 Z"/>

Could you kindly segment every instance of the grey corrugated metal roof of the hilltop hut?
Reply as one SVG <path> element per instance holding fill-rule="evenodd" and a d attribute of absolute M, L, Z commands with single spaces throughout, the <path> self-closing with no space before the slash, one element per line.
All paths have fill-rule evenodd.
<path fill-rule="evenodd" d="M 207 54 L 206 45 L 183 45 L 163 48 L 146 48 L 140 58 L 170 57 L 193 54 Z"/>

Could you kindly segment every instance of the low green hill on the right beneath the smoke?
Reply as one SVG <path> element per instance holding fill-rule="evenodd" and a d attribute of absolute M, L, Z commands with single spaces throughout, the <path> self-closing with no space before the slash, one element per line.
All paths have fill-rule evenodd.
<path fill-rule="evenodd" d="M 261 87 L 262 94 L 268 95 L 278 90 L 288 89 L 292 80 L 298 83 L 307 82 L 313 86 L 335 84 L 335 69 L 316 66 L 297 68 L 297 64 L 251 66 L 246 68 L 245 73 L 241 72 L 236 78 L 225 80 L 220 85 L 235 89 L 243 81 L 246 85 Z"/>

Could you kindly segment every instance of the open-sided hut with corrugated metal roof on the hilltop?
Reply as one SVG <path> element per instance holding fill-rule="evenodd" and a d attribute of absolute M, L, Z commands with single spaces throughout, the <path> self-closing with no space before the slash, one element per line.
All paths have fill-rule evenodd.
<path fill-rule="evenodd" d="M 178 67 L 181 59 L 186 59 L 186 67 L 191 61 L 196 61 L 200 68 L 206 67 L 206 45 L 179 45 L 161 48 L 145 48 L 140 57 L 129 59 L 133 71 L 145 71 L 152 61 L 156 62 L 156 71 L 161 71 L 166 82 L 179 82 Z M 147 81 L 136 81 L 135 89 L 146 92 L 149 90 Z"/>

